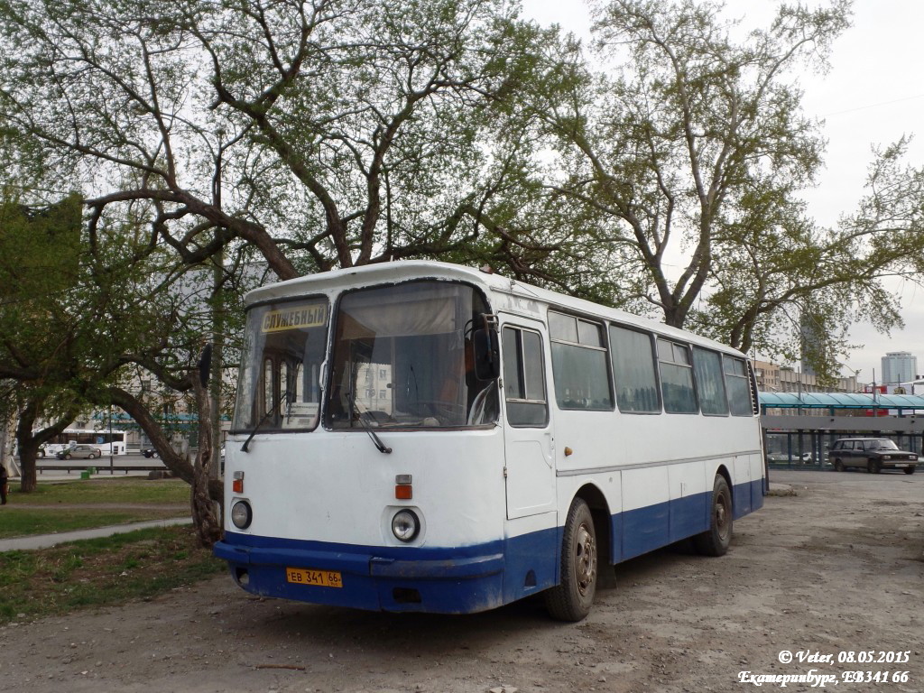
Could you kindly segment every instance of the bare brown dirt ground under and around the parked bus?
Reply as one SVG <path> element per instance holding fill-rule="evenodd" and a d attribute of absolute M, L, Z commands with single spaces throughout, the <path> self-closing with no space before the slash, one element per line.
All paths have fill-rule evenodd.
<path fill-rule="evenodd" d="M 811 673 L 842 691 L 924 692 L 924 473 L 772 481 L 796 495 L 736 522 L 726 556 L 675 547 L 620 565 L 580 624 L 550 621 L 541 600 L 472 616 L 370 614 L 255 599 L 218 577 L 0 628 L 0 690 L 699 693 Z M 883 661 L 857 662 L 870 651 Z M 906 651 L 906 663 L 880 654 Z M 854 663 L 838 663 L 846 652 Z M 873 680 L 846 682 L 853 671 Z"/>

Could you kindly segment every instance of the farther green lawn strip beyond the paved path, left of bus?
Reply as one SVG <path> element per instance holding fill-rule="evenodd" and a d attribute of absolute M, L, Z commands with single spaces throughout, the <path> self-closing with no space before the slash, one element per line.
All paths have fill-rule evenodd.
<path fill-rule="evenodd" d="M 32 493 L 10 486 L 0 539 L 189 515 L 189 486 L 177 479 L 40 481 Z"/>

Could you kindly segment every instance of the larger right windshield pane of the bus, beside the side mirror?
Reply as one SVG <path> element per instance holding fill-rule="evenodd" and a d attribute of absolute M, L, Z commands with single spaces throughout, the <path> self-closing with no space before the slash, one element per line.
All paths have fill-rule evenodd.
<path fill-rule="evenodd" d="M 460 427 L 497 420 L 496 383 L 472 369 L 487 312 L 471 286 L 419 281 L 347 293 L 334 320 L 325 425 Z"/>

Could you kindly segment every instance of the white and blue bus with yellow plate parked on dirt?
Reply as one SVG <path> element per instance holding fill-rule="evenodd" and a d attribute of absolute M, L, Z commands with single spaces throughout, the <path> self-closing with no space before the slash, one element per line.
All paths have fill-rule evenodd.
<path fill-rule="evenodd" d="M 577 621 L 602 567 L 721 555 L 763 505 L 729 346 L 429 261 L 247 303 L 215 553 L 255 594 L 466 614 L 544 592 Z"/>

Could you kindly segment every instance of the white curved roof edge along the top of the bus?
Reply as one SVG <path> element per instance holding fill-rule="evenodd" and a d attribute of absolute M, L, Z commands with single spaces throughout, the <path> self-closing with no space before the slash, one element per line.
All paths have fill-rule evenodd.
<path fill-rule="evenodd" d="M 551 307 L 573 310 L 589 316 L 608 318 L 614 322 L 634 325 L 698 346 L 709 346 L 725 352 L 735 353 L 738 356 L 745 356 L 731 346 L 686 330 L 678 330 L 675 327 L 665 325 L 663 322 L 655 322 L 625 310 L 602 306 L 584 298 L 575 298 L 540 286 L 532 286 L 525 282 L 505 277 L 503 274 L 489 274 L 472 267 L 449 262 L 425 260 L 382 262 L 360 267 L 349 267 L 343 270 L 331 270 L 321 274 L 309 274 L 253 289 L 245 297 L 245 302 L 247 306 L 250 306 L 254 303 L 264 303 L 283 298 L 319 293 L 326 294 L 340 290 L 345 286 L 371 286 L 399 283 L 413 279 L 443 279 L 468 282 L 475 286 L 480 286 L 486 293 L 501 293 L 541 301 Z"/>

